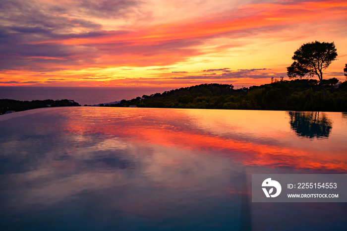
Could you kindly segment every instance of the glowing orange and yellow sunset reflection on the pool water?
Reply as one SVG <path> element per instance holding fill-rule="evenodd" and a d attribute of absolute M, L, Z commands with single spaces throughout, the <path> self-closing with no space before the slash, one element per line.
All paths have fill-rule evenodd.
<path fill-rule="evenodd" d="M 97 126 L 86 126 L 81 118 L 78 124 L 69 125 L 69 131 L 102 133 L 126 138 L 127 142 L 213 153 L 249 166 L 341 171 L 347 165 L 341 144 L 330 140 L 332 147 L 328 141 L 307 143 L 295 138 L 285 112 L 132 109 L 125 110 L 123 117 L 124 112 L 118 111 L 95 110 L 88 119 L 98 120 Z M 103 115 L 96 116 L 100 113 Z M 257 134 L 258 131 L 261 132 Z M 332 150 L 336 157 L 330 155 Z"/>

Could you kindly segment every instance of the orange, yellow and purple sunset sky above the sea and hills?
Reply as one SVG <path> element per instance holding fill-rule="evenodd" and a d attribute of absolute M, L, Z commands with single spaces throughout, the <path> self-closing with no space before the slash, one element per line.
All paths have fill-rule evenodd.
<path fill-rule="evenodd" d="M 248 87 L 312 41 L 346 80 L 346 0 L 1 0 L 0 86 Z"/>

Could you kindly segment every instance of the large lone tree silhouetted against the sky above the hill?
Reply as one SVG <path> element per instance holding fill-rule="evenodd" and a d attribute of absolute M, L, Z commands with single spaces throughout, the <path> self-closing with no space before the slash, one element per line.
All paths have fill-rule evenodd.
<path fill-rule="evenodd" d="M 287 67 L 289 78 L 302 78 L 305 75 L 313 77 L 318 76 L 323 92 L 323 70 L 326 69 L 332 61 L 336 60 L 338 54 L 334 42 L 320 43 L 318 41 L 303 44 L 294 52 L 292 59 L 294 62 Z"/>

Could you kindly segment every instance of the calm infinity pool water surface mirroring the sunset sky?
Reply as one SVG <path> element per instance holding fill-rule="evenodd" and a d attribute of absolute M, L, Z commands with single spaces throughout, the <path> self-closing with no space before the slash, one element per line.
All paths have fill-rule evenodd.
<path fill-rule="evenodd" d="M 1 230 L 337 230 L 347 203 L 252 203 L 251 174 L 347 173 L 347 115 L 46 108 L 0 116 Z"/>

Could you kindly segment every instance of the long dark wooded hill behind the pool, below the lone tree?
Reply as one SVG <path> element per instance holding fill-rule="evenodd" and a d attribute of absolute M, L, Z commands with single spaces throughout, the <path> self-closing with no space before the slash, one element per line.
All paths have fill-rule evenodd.
<path fill-rule="evenodd" d="M 201 84 L 105 106 L 346 112 L 347 81 L 336 88 L 338 82 L 336 78 L 324 80 L 325 97 L 317 80 L 275 79 L 271 84 L 242 89 L 233 89 L 228 84 Z"/>

